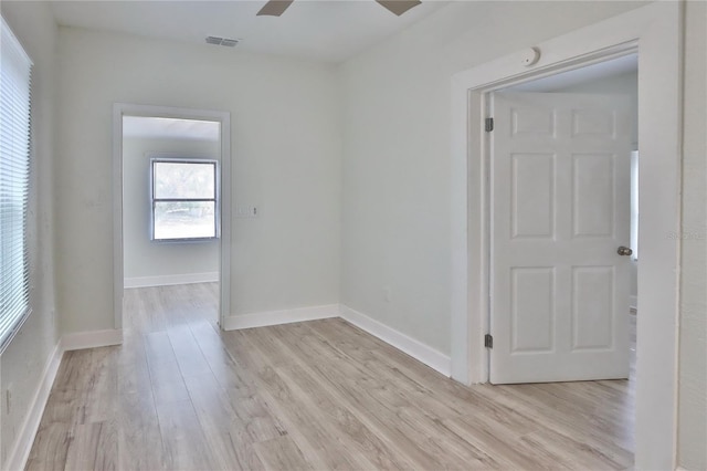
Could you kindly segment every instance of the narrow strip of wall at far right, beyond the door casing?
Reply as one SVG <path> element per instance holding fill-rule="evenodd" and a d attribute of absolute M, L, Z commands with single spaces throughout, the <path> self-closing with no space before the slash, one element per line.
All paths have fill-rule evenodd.
<path fill-rule="evenodd" d="M 707 3 L 686 4 L 678 462 L 707 469 Z M 639 314 L 640 318 L 640 314 Z M 641 321 L 639 321 L 641 322 Z"/>

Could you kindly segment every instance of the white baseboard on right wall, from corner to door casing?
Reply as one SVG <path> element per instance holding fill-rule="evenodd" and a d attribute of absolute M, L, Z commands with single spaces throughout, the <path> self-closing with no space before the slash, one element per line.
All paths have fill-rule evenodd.
<path fill-rule="evenodd" d="M 354 311 L 346 305 L 341 305 L 341 317 L 369 334 L 380 338 L 387 344 L 392 345 L 399 350 L 407 353 L 416 360 L 424 363 L 430 368 L 440 371 L 444 376 L 450 377 L 452 375 L 451 358 L 434 348 L 424 345 L 423 343 L 415 341 L 392 327 L 381 324 L 366 314 Z"/>

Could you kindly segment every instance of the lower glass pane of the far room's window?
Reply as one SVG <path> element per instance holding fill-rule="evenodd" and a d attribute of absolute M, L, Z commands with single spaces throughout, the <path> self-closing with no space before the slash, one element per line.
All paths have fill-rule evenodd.
<path fill-rule="evenodd" d="M 213 238 L 215 226 L 213 201 L 155 202 L 155 239 Z"/>

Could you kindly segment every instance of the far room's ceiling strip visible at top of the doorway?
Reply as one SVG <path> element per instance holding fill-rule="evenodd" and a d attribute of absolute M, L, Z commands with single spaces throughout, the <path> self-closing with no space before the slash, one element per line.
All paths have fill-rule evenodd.
<path fill-rule="evenodd" d="M 124 116 L 124 137 L 218 142 L 221 125 L 211 121 Z"/>

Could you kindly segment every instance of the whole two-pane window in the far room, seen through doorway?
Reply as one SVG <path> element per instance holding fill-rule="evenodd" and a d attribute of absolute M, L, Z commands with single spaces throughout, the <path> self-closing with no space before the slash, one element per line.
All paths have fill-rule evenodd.
<path fill-rule="evenodd" d="M 217 161 L 154 158 L 150 164 L 152 240 L 217 238 Z"/>

